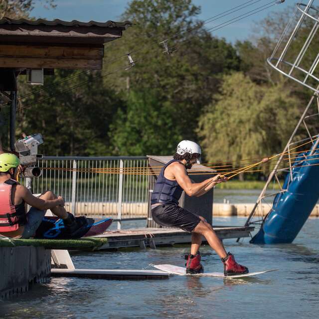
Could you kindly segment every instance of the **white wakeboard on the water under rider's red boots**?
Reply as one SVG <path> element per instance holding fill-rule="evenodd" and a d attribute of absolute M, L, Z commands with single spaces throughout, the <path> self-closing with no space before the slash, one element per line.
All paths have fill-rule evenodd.
<path fill-rule="evenodd" d="M 180 276 L 202 276 L 202 277 L 220 277 L 220 278 L 241 278 L 241 277 L 249 277 L 256 276 L 260 274 L 269 273 L 271 271 L 276 271 L 278 269 L 257 271 L 254 273 L 247 273 L 242 275 L 234 275 L 234 276 L 225 276 L 224 273 L 201 273 L 201 274 L 186 274 L 185 267 L 178 267 L 174 265 L 152 265 L 153 267 L 165 271 L 170 274 L 180 275 Z"/>

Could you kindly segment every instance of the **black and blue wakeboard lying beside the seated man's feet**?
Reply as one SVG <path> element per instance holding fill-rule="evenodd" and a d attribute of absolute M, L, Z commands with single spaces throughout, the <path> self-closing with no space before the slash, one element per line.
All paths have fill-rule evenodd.
<path fill-rule="evenodd" d="M 93 218 L 75 217 L 78 228 L 70 233 L 63 219 L 56 216 L 45 216 L 35 232 L 35 238 L 42 239 L 77 239 L 103 234 L 112 224 L 113 219 L 106 218 L 95 222 Z"/>

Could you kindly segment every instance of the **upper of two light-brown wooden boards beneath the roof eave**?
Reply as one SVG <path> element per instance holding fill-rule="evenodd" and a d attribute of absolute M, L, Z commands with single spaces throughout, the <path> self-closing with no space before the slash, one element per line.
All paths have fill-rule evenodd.
<path fill-rule="evenodd" d="M 45 57 L 45 58 L 73 58 L 99 59 L 104 56 L 104 46 L 95 47 L 67 47 L 67 46 L 31 46 L 31 45 L 2 45 L 0 57 Z"/>

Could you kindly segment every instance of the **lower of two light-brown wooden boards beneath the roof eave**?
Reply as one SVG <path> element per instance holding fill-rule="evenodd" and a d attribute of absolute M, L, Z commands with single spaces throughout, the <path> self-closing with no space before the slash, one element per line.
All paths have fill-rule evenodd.
<path fill-rule="evenodd" d="M 0 57 L 0 68 L 101 70 L 102 59 Z"/>

